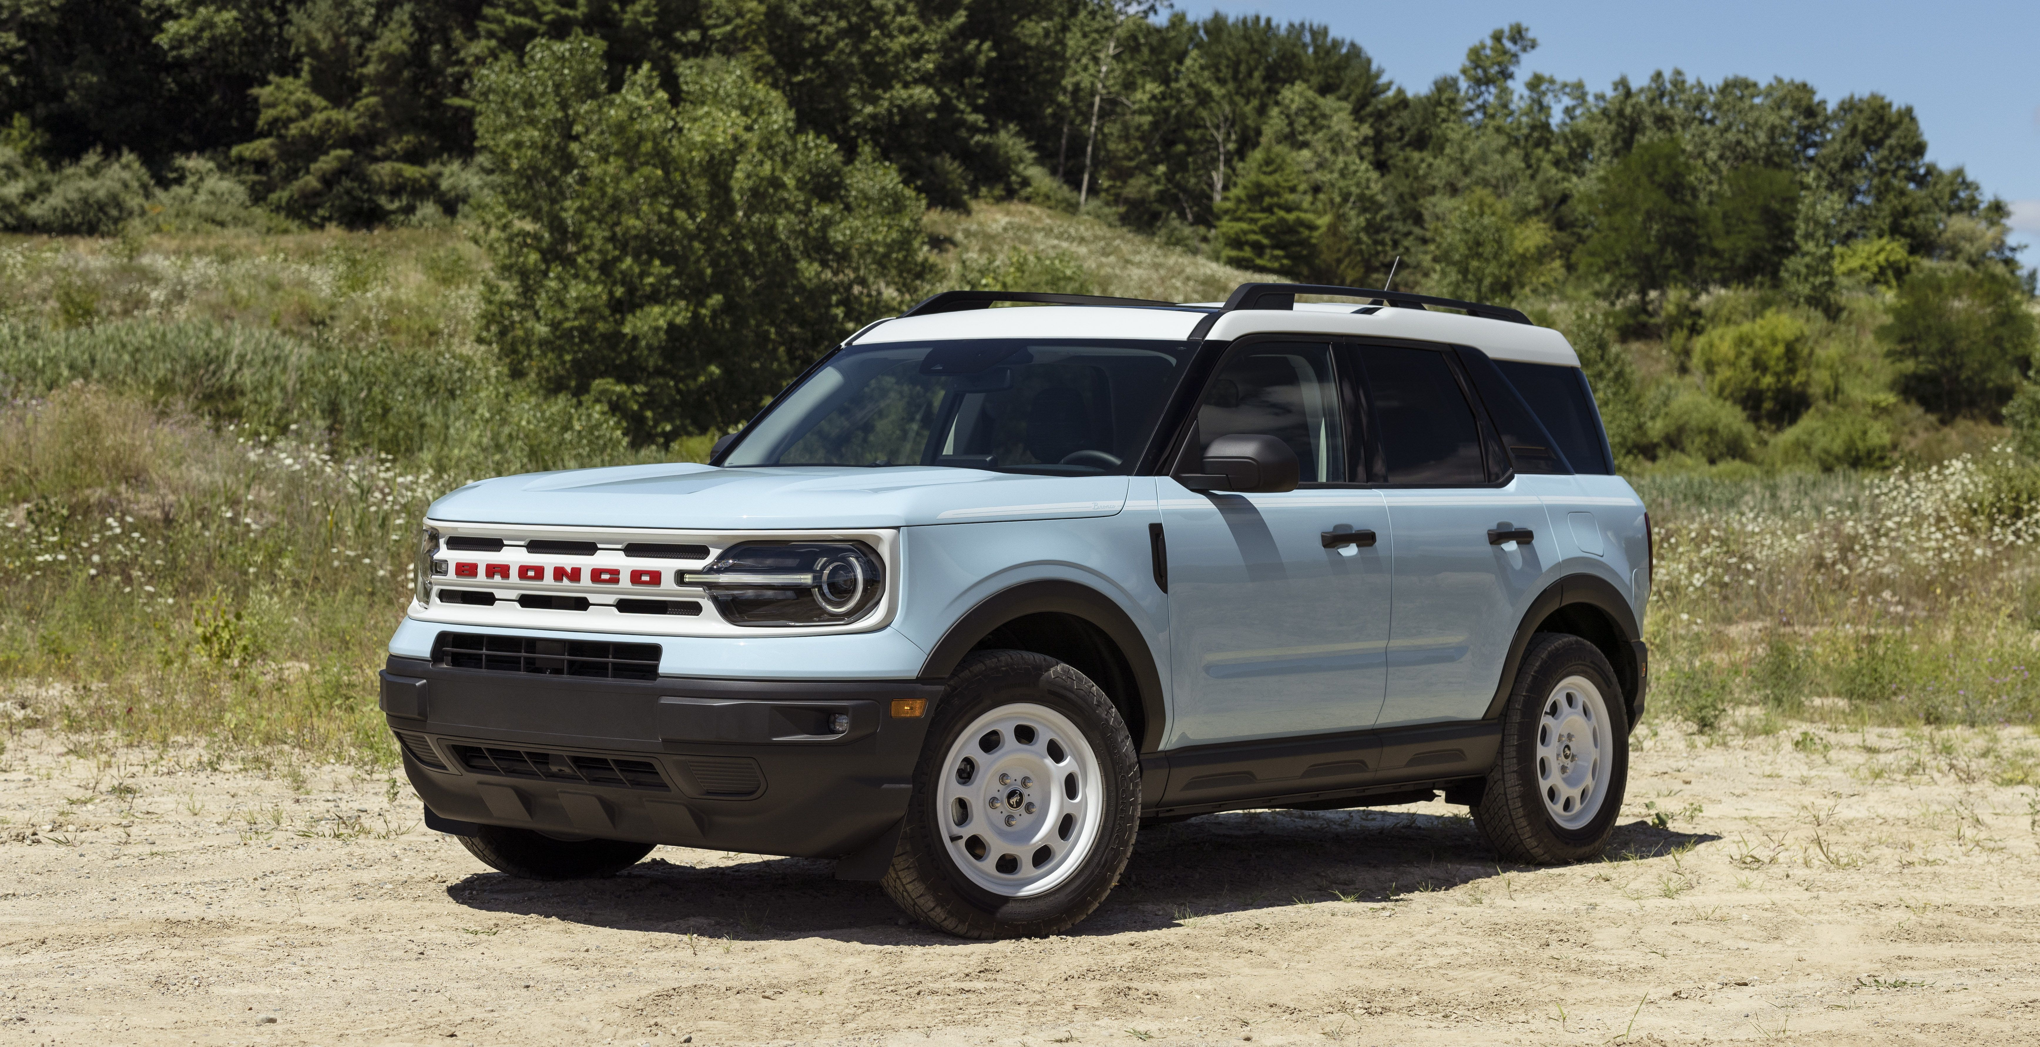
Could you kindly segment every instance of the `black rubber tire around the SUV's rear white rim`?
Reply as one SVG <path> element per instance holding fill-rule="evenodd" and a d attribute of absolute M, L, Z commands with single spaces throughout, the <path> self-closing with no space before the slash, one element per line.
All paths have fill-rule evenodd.
<path fill-rule="evenodd" d="M 1581 825 L 1563 825 L 1546 790 L 1554 803 L 1565 803 L 1559 788 L 1563 778 L 1540 776 L 1538 731 L 1548 709 L 1565 711 L 1565 703 L 1585 703 L 1579 688 L 1561 693 L 1569 678 L 1581 678 L 1599 693 L 1601 709 L 1591 717 L 1605 729 L 1601 752 L 1605 774 L 1591 774 L 1599 809 Z M 1552 705 L 1559 703 L 1559 705 Z M 1605 723 L 1599 723 L 1605 719 Z M 1569 735 L 1567 735 L 1569 737 Z M 1559 766 L 1577 766 L 1559 764 Z M 1548 774 L 1550 768 L 1544 768 Z M 1481 803 L 1473 805 L 1473 823 L 1487 837 L 1495 851 L 1530 866 L 1557 866 L 1585 862 L 1601 853 L 1608 833 L 1614 831 L 1622 815 L 1622 794 L 1630 776 L 1630 723 L 1622 686 L 1608 658 L 1585 640 L 1569 633 L 1536 633 L 1524 650 L 1522 668 L 1516 672 L 1516 688 L 1501 711 L 1501 752 L 1495 768 L 1487 774 Z M 1581 803 L 1581 809 L 1585 803 Z"/>

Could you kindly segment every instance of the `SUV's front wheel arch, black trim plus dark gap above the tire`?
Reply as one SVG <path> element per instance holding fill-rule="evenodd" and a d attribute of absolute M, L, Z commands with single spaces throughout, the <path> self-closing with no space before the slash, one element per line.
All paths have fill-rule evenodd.
<path fill-rule="evenodd" d="M 1155 652 L 1112 597 L 1069 581 L 1032 581 L 1002 589 L 942 633 L 922 682 L 942 682 L 973 650 L 1030 650 L 1083 672 L 1112 699 L 1140 752 L 1161 748 L 1167 711 Z"/>

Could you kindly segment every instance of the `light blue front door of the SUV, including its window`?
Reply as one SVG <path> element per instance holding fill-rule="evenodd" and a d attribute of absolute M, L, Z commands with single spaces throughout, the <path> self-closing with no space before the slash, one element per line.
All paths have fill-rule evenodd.
<path fill-rule="evenodd" d="M 1334 367 L 1330 342 L 1236 346 L 1197 409 L 1202 446 L 1230 434 L 1289 444 L 1302 466 L 1295 491 L 1200 493 L 1159 481 L 1175 697 L 1165 748 L 1375 723 L 1389 521 L 1379 491 L 1346 485 L 1348 409 Z M 1346 532 L 1375 540 L 1336 538 Z"/>

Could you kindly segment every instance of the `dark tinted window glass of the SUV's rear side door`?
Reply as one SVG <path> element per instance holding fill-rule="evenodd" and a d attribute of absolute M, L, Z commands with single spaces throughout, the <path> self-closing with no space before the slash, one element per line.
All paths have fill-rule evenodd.
<path fill-rule="evenodd" d="M 1361 346 L 1367 397 L 1381 424 L 1387 481 L 1418 487 L 1479 487 L 1481 428 L 1442 352 Z"/>

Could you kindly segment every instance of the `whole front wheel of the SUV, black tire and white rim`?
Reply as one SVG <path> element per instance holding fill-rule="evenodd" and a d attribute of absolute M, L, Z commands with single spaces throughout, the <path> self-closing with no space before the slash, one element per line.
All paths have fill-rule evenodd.
<path fill-rule="evenodd" d="M 953 935 L 1053 935 L 1104 902 L 1138 827 L 1140 760 L 1098 684 L 979 652 L 936 707 L 883 886 Z"/>

